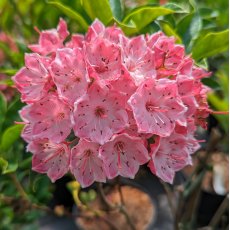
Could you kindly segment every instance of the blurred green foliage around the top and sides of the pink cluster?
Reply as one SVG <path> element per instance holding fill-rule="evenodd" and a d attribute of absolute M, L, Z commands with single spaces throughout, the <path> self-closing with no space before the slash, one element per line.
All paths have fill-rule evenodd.
<path fill-rule="evenodd" d="M 0 84 L 12 88 L 11 76 L 23 66 L 27 45 L 36 43 L 40 30 L 56 27 L 59 17 L 67 20 L 72 33 L 85 33 L 95 18 L 105 25 L 116 23 L 126 35 L 162 30 L 186 46 L 197 65 L 213 72 L 204 83 L 213 91 L 209 102 L 217 111 L 228 110 L 228 2 L 225 0 L 1 0 L 0 32 L 9 35 L 18 50 L 1 41 Z M 0 93 L 0 229 L 15 229 L 32 223 L 42 205 L 52 197 L 53 185 L 46 176 L 31 171 L 31 154 L 20 139 L 18 110 L 22 107 L 15 92 L 11 100 Z M 214 115 L 223 133 L 220 149 L 227 152 L 228 116 Z M 10 205 L 9 205 L 10 204 Z M 13 204 L 13 205 L 12 205 Z M 28 206 L 28 207 L 27 207 Z"/>

